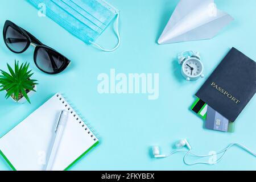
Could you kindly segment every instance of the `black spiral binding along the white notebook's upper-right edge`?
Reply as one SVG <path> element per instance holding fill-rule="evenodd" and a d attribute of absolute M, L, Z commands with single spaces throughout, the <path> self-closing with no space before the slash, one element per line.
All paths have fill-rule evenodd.
<path fill-rule="evenodd" d="M 73 106 L 72 102 L 68 100 L 65 94 L 57 93 L 56 97 L 62 102 L 62 104 L 65 105 L 69 113 L 76 118 L 77 123 L 79 123 L 81 127 L 84 127 L 86 133 L 88 133 L 94 141 L 97 141 L 100 138 L 99 135 L 96 134 L 96 131 L 92 129 L 92 126 L 89 125 L 86 119 L 82 117 L 81 113 L 74 109 L 75 107 Z"/>

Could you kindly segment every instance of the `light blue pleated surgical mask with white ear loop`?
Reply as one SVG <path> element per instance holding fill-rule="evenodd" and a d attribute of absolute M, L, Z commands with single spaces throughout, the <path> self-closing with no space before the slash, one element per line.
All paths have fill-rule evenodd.
<path fill-rule="evenodd" d="M 46 7 L 46 15 L 60 24 L 72 35 L 93 44 L 102 51 L 112 52 L 119 47 L 120 36 L 118 32 L 119 11 L 104 0 L 27 0 L 36 8 Z M 117 17 L 116 34 L 118 44 L 108 50 L 99 46 L 95 41 Z"/>

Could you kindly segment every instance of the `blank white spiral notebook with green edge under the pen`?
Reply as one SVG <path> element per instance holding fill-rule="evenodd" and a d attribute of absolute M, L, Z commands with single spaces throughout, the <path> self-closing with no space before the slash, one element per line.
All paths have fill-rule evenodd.
<path fill-rule="evenodd" d="M 42 171 L 46 168 L 53 131 L 61 110 L 68 110 L 69 117 L 53 170 L 69 169 L 98 144 L 88 125 L 57 93 L 0 139 L 0 154 L 12 169 Z"/>

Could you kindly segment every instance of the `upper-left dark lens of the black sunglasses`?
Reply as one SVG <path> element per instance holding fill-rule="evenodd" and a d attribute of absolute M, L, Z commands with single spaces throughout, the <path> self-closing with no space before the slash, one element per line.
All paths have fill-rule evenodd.
<path fill-rule="evenodd" d="M 15 27 L 9 26 L 6 30 L 5 42 L 12 51 L 22 52 L 26 48 L 29 40 L 23 35 L 23 32 Z"/>

